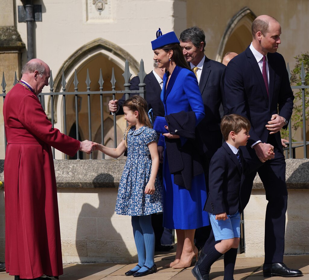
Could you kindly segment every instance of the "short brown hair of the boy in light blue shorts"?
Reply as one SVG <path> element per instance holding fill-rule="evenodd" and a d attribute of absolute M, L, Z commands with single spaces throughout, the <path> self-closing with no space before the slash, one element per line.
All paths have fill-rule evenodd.
<path fill-rule="evenodd" d="M 220 124 L 221 133 L 225 141 L 228 140 L 231 131 L 237 134 L 242 129 L 249 131 L 250 128 L 251 124 L 249 120 L 237 114 L 223 116 Z"/>

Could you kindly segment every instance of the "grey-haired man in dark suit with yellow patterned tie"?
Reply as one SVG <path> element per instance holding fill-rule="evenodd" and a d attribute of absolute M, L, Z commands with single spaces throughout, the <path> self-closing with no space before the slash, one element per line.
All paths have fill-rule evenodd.
<path fill-rule="evenodd" d="M 205 50 L 205 33 L 197 26 L 185 29 L 180 33 L 180 46 L 190 68 L 197 77 L 205 106 L 205 118 L 197 125 L 197 129 L 206 146 L 205 156 L 205 181 L 208 192 L 208 169 L 209 163 L 222 145 L 222 134 L 220 131 L 220 121 L 222 112 L 221 77 L 225 69 L 222 63 L 207 58 Z M 220 108 L 221 107 L 221 108 Z M 196 246 L 204 246 L 210 233 L 210 226 L 196 230 Z"/>

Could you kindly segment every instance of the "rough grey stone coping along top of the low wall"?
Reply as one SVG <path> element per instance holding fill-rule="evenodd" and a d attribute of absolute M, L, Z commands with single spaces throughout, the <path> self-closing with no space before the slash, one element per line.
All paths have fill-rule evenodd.
<path fill-rule="evenodd" d="M 3 182 L 0 160 L 0 180 Z M 119 186 L 125 160 L 54 160 L 58 188 L 113 188 Z M 309 159 L 286 160 L 288 189 L 309 189 Z M 263 189 L 256 175 L 253 189 Z"/>

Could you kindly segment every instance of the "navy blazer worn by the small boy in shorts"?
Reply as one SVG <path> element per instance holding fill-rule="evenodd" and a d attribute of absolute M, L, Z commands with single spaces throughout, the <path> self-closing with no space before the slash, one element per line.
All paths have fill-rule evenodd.
<path fill-rule="evenodd" d="M 246 162 L 240 153 L 241 164 L 226 142 L 215 152 L 209 167 L 209 194 L 204 210 L 214 215 L 226 212 L 233 215 L 243 211 L 239 193 L 244 180 Z"/>

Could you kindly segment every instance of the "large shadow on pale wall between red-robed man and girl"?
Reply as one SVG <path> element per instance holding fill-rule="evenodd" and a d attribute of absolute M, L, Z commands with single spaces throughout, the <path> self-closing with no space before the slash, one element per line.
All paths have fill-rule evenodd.
<path fill-rule="evenodd" d="M 128 244 L 129 248 L 132 247 L 133 239 L 130 219 L 117 215 L 112 223 L 118 188 L 103 182 L 113 181 L 112 175 L 101 173 L 93 180 L 97 189 L 86 190 L 98 193 L 99 206 L 95 208 L 89 203 L 84 203 L 78 216 L 76 249 L 82 263 L 135 260 L 127 248 Z M 119 231 L 124 235 L 121 236 Z"/>

